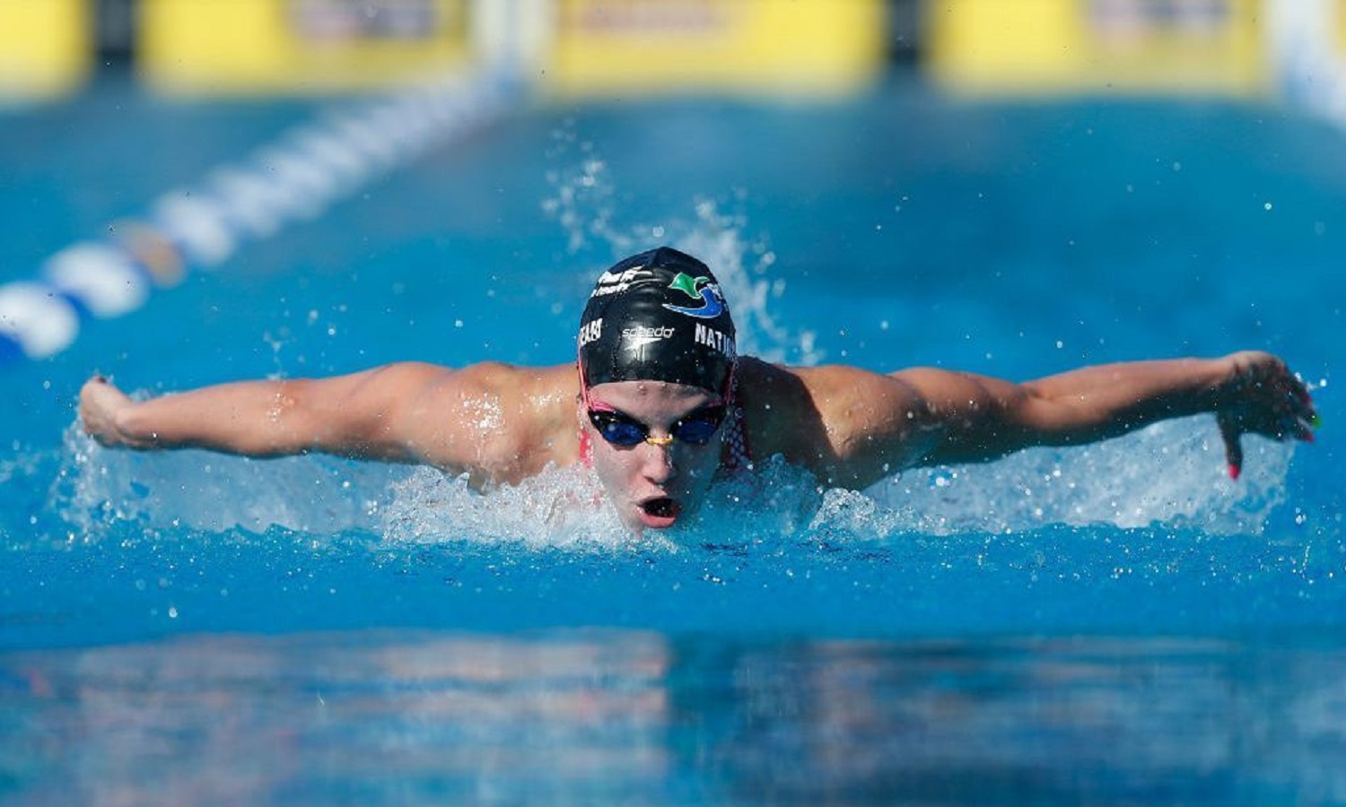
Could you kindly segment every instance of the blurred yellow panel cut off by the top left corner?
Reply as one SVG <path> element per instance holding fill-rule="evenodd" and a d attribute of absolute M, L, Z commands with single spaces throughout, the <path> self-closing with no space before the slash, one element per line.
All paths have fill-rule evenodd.
<path fill-rule="evenodd" d="M 86 0 L 0 0 L 0 98 L 78 87 L 92 65 Z"/>

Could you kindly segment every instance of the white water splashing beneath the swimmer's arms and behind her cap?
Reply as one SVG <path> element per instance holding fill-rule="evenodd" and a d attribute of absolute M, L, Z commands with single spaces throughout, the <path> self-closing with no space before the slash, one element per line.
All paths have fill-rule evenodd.
<path fill-rule="evenodd" d="M 689 203 L 685 217 L 660 225 L 618 222 L 614 183 L 592 145 L 580 143 L 572 126 L 559 130 L 555 144 L 555 157 L 575 152 L 580 157 L 549 172 L 552 195 L 544 202 L 568 235 L 577 285 L 587 288 L 612 257 L 651 242 L 672 243 L 715 268 L 734 307 L 742 352 L 804 364 L 821 359 L 813 334 L 791 331 L 773 316 L 773 301 L 785 285 L 771 276 L 775 256 L 766 239 L 744 234 L 742 214 L 700 199 Z M 1248 471 L 1233 483 L 1222 475 L 1215 437 L 1209 418 L 1171 421 L 1086 448 L 895 473 L 863 492 L 826 490 L 802 471 L 765 459 L 756 473 L 717 484 L 680 527 L 642 543 L 674 550 L 785 535 L 875 541 L 1044 525 L 1159 523 L 1260 533 L 1281 502 L 1292 448 L 1250 440 Z M 572 550 L 631 543 L 583 468 L 552 469 L 481 494 L 464 479 L 428 468 L 327 457 L 257 461 L 190 451 L 105 451 L 74 426 L 65 455 L 50 500 L 73 525 L 71 533 L 89 539 L 133 523 L 145 530 L 359 530 L 392 543 L 467 541 Z"/>

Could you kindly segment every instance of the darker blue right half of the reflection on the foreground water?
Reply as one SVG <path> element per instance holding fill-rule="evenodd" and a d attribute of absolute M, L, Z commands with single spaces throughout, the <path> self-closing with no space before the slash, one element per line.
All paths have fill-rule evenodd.
<path fill-rule="evenodd" d="M 736 662 L 720 755 L 738 795 L 781 802 L 1316 803 L 1346 795 L 1343 662 L 1163 639 L 767 647 Z"/>

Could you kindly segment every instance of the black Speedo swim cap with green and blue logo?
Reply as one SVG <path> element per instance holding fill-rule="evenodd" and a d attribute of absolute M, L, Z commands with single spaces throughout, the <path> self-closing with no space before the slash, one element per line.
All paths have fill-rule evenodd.
<path fill-rule="evenodd" d="M 661 246 L 598 278 L 580 317 L 580 377 L 666 381 L 728 394 L 738 355 L 720 284 L 689 254 Z"/>

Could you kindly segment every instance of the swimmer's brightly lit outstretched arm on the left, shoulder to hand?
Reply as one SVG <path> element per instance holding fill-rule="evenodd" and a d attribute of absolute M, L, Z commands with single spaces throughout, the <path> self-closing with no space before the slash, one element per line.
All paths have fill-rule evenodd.
<path fill-rule="evenodd" d="M 555 406 L 548 397 L 572 375 L 405 362 L 335 378 L 223 383 L 148 401 L 93 378 L 79 393 L 79 417 L 85 432 L 109 447 L 254 457 L 323 452 L 427 463 L 485 483 L 559 461 L 545 451 L 522 449 L 556 428 L 555 412 L 573 420 L 573 405 Z"/>

